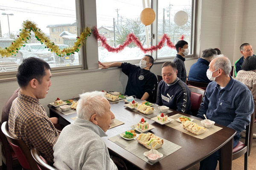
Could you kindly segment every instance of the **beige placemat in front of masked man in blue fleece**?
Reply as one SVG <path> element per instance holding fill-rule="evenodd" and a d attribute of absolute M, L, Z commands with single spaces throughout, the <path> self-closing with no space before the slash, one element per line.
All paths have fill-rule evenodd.
<path fill-rule="evenodd" d="M 179 118 L 180 116 L 184 116 L 184 115 L 182 115 L 182 114 L 175 114 L 175 115 L 173 115 L 173 116 L 170 116 L 169 118 L 177 119 L 177 118 Z M 201 124 L 201 121 L 200 121 L 200 120 L 194 119 L 193 122 L 195 122 L 195 123 L 198 124 L 199 126 L 203 126 L 203 125 Z M 174 128 L 174 129 L 176 129 L 176 130 L 179 130 L 179 131 L 181 131 L 181 132 L 183 132 L 183 133 L 186 133 L 186 134 L 188 134 L 188 135 L 190 135 L 190 136 L 194 136 L 195 138 L 198 138 L 198 139 L 204 139 L 204 138 L 206 138 L 207 136 L 210 136 L 210 135 L 212 135 L 213 133 L 218 132 L 219 130 L 222 129 L 222 127 L 218 127 L 218 126 L 213 125 L 212 127 L 207 128 L 208 130 L 206 130 L 206 132 L 202 133 L 201 135 L 195 135 L 195 134 L 190 133 L 189 131 L 183 129 L 183 127 L 180 126 L 180 124 L 181 124 L 180 122 L 177 122 L 177 121 L 175 120 L 175 121 L 173 121 L 172 123 L 166 124 L 166 126 L 172 127 L 172 128 Z"/>

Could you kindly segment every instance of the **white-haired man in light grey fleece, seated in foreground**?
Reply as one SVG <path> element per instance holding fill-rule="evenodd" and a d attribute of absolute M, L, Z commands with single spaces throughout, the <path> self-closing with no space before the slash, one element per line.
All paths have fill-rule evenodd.
<path fill-rule="evenodd" d="M 109 156 L 101 137 L 114 118 L 110 104 L 99 91 L 80 95 L 77 118 L 61 131 L 53 147 L 54 166 L 59 170 L 117 170 L 127 169 L 122 159 Z"/>

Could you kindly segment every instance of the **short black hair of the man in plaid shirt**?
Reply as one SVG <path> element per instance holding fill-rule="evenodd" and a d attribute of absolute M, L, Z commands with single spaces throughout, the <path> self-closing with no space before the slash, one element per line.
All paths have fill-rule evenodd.
<path fill-rule="evenodd" d="M 45 71 L 47 69 L 51 70 L 49 64 L 40 58 L 29 57 L 24 59 L 18 67 L 16 74 L 20 88 L 25 88 L 32 79 L 37 79 L 41 84 L 42 78 L 46 75 Z"/>

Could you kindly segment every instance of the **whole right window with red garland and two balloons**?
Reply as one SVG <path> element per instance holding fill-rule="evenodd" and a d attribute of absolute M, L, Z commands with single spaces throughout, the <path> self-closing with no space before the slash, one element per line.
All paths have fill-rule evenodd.
<path fill-rule="evenodd" d="M 148 48 L 151 45 L 157 45 L 163 37 L 163 34 L 167 34 L 174 44 L 180 40 L 181 35 L 184 35 L 184 40 L 189 43 L 189 54 L 192 54 L 193 0 L 152 0 L 152 2 L 152 8 L 156 13 L 156 20 L 153 24 L 156 24 L 156 26 L 154 27 L 152 24 L 152 27 L 145 27 L 140 21 L 140 13 L 143 10 L 142 1 L 96 0 L 97 27 L 99 33 L 105 32 L 104 36 L 106 37 L 108 44 L 112 47 L 118 47 L 123 44 L 127 35 L 133 33 L 140 40 L 144 48 Z M 156 5 L 154 6 L 154 4 Z M 156 6 L 158 6 L 158 8 Z M 174 16 L 177 11 L 181 10 L 186 11 L 189 18 L 184 26 L 177 26 L 174 22 Z M 145 29 L 148 29 L 148 46 Z M 154 34 L 154 39 L 151 39 L 152 34 Z M 176 56 L 176 53 L 177 51 L 169 48 L 165 41 L 164 47 L 152 55 L 155 59 L 162 59 L 166 57 L 174 57 Z M 144 55 L 143 51 L 141 51 L 133 42 L 118 54 L 108 52 L 101 46 L 101 42 L 98 42 L 98 54 L 99 60 L 102 62 L 141 59 Z"/>

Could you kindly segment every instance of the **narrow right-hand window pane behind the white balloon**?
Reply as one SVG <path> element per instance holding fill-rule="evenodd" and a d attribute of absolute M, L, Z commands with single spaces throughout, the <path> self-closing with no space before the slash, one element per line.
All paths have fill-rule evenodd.
<path fill-rule="evenodd" d="M 177 11 L 186 11 L 189 18 L 185 25 L 177 26 L 174 22 L 174 16 Z M 192 14 L 192 0 L 161 0 L 158 1 L 157 12 L 157 43 L 167 34 L 173 44 L 180 40 L 181 35 L 184 35 L 184 40 L 189 44 L 189 51 L 191 54 L 191 14 Z M 162 49 L 157 51 L 157 58 L 176 56 L 176 49 L 169 48 L 166 43 Z"/>

